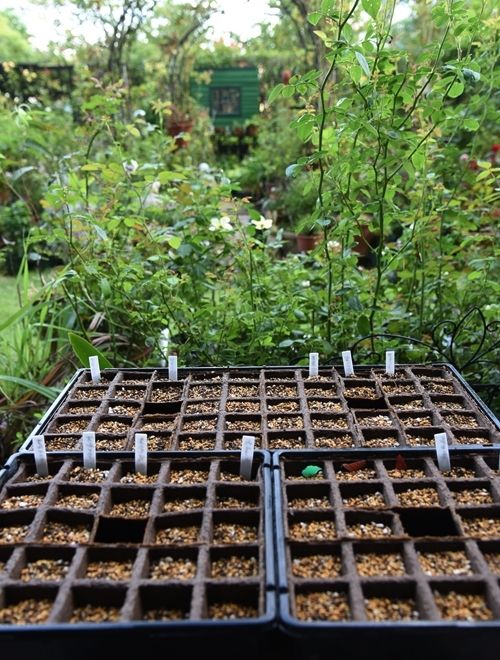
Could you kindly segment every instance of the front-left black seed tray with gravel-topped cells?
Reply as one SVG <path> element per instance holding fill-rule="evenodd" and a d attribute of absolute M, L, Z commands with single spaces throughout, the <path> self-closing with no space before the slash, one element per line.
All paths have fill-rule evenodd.
<path fill-rule="evenodd" d="M 168 639 L 188 657 L 207 643 L 228 657 L 227 637 L 255 654 L 275 619 L 268 459 L 256 452 L 246 481 L 237 453 L 150 455 L 146 478 L 130 454 L 92 473 L 63 454 L 42 479 L 31 454 L 13 456 L 0 480 L 0 648 L 90 633 L 115 653 Z"/>

